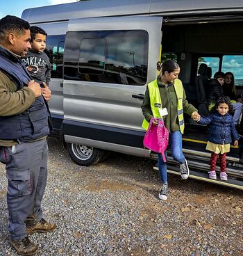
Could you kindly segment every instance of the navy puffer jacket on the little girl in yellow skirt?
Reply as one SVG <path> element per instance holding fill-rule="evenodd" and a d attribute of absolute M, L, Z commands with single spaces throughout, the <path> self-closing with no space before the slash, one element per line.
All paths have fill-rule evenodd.
<path fill-rule="evenodd" d="M 220 115 L 218 112 L 212 113 L 208 117 L 200 118 L 199 124 L 209 125 L 208 141 L 215 144 L 229 144 L 239 140 L 239 136 L 235 129 L 233 116 L 227 113 Z"/>

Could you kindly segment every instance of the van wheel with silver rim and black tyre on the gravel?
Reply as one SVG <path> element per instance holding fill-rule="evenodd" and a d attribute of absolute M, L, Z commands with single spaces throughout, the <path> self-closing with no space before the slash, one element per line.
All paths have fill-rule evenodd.
<path fill-rule="evenodd" d="M 91 166 L 103 159 L 104 151 L 74 143 L 67 143 L 69 156 L 80 166 Z"/>

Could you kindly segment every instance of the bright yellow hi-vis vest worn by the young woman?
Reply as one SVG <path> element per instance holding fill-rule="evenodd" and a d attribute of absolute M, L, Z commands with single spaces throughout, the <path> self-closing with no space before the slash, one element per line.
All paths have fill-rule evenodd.
<path fill-rule="evenodd" d="M 160 98 L 160 90 L 158 88 L 157 84 L 157 79 L 151 81 L 148 84 L 149 88 L 149 98 L 150 98 L 150 105 L 151 105 L 151 110 L 153 113 L 154 118 L 161 118 L 160 112 L 159 112 L 159 107 L 161 107 L 161 98 Z M 178 120 L 179 120 L 179 127 L 181 130 L 181 133 L 183 134 L 184 132 L 184 118 L 183 118 L 183 84 L 180 79 L 175 79 L 174 80 L 174 88 L 176 91 L 176 96 L 177 96 L 177 115 L 178 115 Z M 149 128 L 149 122 L 147 122 L 145 119 L 142 122 L 142 127 L 144 129 Z"/>

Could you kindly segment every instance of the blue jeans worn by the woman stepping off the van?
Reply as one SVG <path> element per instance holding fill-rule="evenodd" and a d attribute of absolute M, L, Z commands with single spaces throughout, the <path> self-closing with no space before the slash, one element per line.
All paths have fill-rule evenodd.
<path fill-rule="evenodd" d="M 169 134 L 169 145 L 171 147 L 171 154 L 174 160 L 179 163 L 185 162 L 185 157 L 182 151 L 182 134 L 181 131 L 174 131 Z M 165 152 L 165 157 L 167 153 Z M 167 164 L 162 159 L 162 154 L 158 154 L 158 170 L 162 183 L 167 182 Z"/>

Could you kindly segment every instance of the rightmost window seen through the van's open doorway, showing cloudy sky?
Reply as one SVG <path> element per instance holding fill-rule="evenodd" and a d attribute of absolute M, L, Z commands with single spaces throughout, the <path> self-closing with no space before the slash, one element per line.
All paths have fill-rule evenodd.
<path fill-rule="evenodd" d="M 224 55 L 222 61 L 222 72 L 232 72 L 235 77 L 235 85 L 243 86 L 243 56 Z"/>

